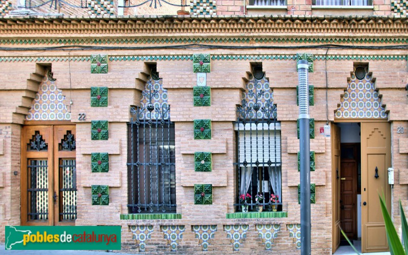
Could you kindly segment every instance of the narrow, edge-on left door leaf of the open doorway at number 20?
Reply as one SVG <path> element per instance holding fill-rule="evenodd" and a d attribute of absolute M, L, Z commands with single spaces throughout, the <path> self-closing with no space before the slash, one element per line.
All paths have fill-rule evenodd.
<path fill-rule="evenodd" d="M 340 127 L 331 125 L 332 252 L 340 245 Z"/>

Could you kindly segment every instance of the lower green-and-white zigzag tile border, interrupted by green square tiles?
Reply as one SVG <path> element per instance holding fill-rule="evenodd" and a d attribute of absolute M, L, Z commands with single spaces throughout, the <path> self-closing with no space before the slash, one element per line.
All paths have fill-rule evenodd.
<path fill-rule="evenodd" d="M 296 55 L 212 55 L 212 60 L 296 60 Z M 327 56 L 327 60 L 407 60 L 408 55 L 340 55 Z M 71 57 L 70 61 L 90 61 L 88 57 Z M 192 55 L 164 56 L 111 56 L 109 61 L 163 61 L 193 60 Z M 314 60 L 325 60 L 324 55 L 315 55 Z M 0 57 L 0 62 L 60 62 L 68 57 Z"/>

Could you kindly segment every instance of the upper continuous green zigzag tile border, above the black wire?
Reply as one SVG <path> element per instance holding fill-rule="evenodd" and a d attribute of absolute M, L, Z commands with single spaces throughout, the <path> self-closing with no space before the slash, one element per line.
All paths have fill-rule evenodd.
<path fill-rule="evenodd" d="M 3 39 L 0 45 L 37 44 L 162 44 L 247 43 L 249 38 L 152 38 L 152 39 Z M 408 38 L 254 38 L 257 43 L 408 43 Z"/>

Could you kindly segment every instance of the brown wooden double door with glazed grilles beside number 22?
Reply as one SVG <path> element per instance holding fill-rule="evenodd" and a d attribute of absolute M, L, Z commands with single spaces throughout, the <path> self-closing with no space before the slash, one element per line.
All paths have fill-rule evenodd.
<path fill-rule="evenodd" d="M 73 225 L 75 126 L 27 125 L 21 139 L 21 225 Z"/>

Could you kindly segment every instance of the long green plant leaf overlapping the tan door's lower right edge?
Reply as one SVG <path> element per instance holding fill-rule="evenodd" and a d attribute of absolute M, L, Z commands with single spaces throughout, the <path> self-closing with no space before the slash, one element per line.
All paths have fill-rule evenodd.
<path fill-rule="evenodd" d="M 387 206 L 385 202 L 384 193 L 382 197 L 378 194 L 379 203 L 381 206 L 382 217 L 384 218 L 384 223 L 386 225 L 386 232 L 387 232 L 387 240 L 388 245 L 390 246 L 391 254 L 405 254 L 404 248 L 402 248 L 402 244 L 399 241 L 397 232 L 395 231 L 394 224 L 392 223 L 390 214 L 387 211 Z"/>

